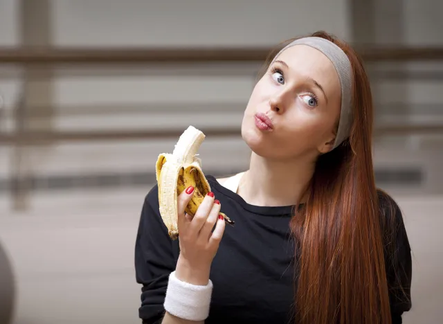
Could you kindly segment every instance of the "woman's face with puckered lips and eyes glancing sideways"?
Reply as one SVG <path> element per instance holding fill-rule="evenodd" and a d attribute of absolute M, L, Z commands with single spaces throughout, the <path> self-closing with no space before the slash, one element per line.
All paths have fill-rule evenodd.
<path fill-rule="evenodd" d="M 242 137 L 255 154 L 267 158 L 315 157 L 332 150 L 340 106 L 332 62 L 310 46 L 292 46 L 255 85 Z"/>

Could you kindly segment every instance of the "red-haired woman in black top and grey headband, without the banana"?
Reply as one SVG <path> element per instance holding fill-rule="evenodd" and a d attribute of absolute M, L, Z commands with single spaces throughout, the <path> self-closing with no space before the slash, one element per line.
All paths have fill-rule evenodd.
<path fill-rule="evenodd" d="M 143 323 L 401 323 L 410 246 L 397 204 L 374 185 L 372 110 L 344 42 L 318 32 L 275 55 L 244 112 L 248 170 L 208 175 L 213 192 L 192 219 L 193 188 L 183 192 L 177 241 L 157 187 L 147 194 L 136 240 Z"/>

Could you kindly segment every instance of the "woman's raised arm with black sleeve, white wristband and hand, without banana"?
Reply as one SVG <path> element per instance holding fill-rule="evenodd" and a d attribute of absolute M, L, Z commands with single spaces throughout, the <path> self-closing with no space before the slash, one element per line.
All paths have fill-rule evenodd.
<path fill-rule="evenodd" d="M 184 210 L 190 197 L 192 194 L 183 192 L 179 197 L 179 210 Z M 213 203 L 213 198 L 206 197 L 201 206 L 204 208 L 199 207 L 199 215 L 189 222 L 181 215 L 184 211 L 179 213 L 179 228 L 183 236 L 180 244 L 185 244 L 183 248 L 188 256 L 180 254 L 179 257 L 179 241 L 170 239 L 159 213 L 158 187 L 152 188 L 145 198 L 135 246 L 136 280 L 143 285 L 139 309 L 143 324 L 204 323 L 183 318 L 207 316 L 212 292 L 210 261 L 221 239 L 224 222 L 216 226 L 210 238 L 209 248 L 212 246 L 212 249 L 209 249 L 206 241 L 217 221 L 219 205 Z M 202 225 L 205 226 L 201 228 Z M 199 228 L 203 238 L 193 236 Z M 173 310 L 175 316 L 165 309 Z"/>

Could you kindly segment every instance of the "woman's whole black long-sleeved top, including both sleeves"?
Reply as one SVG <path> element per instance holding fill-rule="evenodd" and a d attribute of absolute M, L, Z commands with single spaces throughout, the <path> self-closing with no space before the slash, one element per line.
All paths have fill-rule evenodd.
<path fill-rule="evenodd" d="M 263 207 L 247 204 L 242 197 L 224 188 L 215 177 L 206 176 L 221 212 L 235 220 L 226 224 L 223 238 L 210 271 L 213 295 L 205 324 L 293 323 L 294 244 L 289 231 L 293 206 Z M 388 201 L 379 196 L 380 206 Z M 390 198 L 389 198 L 390 199 Z M 390 202 L 394 202 L 391 201 Z M 392 323 L 401 323 L 401 314 L 410 309 L 411 256 L 401 212 L 394 202 L 395 266 L 405 296 L 394 292 L 391 259 L 386 260 Z M 145 197 L 136 237 L 136 280 L 143 285 L 139 316 L 143 323 L 161 323 L 168 276 L 179 256 L 179 240 L 171 240 L 159 213 L 158 187 Z"/>

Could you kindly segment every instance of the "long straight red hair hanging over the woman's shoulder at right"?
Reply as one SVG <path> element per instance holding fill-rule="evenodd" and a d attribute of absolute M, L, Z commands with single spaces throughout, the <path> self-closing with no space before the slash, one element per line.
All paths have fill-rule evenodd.
<path fill-rule="evenodd" d="M 350 138 L 319 156 L 307 200 L 291 221 L 296 241 L 296 323 L 390 324 L 372 165 L 370 82 L 361 58 L 345 42 L 324 32 L 311 36 L 334 42 L 349 57 L 354 121 Z"/>

